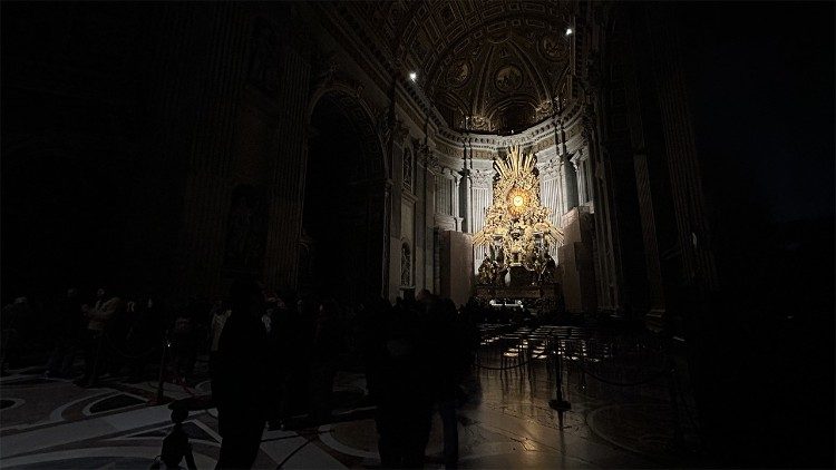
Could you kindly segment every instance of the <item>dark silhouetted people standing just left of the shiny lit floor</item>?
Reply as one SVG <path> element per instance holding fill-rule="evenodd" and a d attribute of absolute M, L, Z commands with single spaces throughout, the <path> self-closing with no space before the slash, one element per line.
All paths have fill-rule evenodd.
<path fill-rule="evenodd" d="M 444 424 L 447 468 L 458 462 L 456 404 L 478 334 L 449 298 L 428 291 L 393 306 L 378 302 L 364 322 L 369 392 L 378 404 L 378 451 L 385 468 L 424 463 L 434 409 Z"/>

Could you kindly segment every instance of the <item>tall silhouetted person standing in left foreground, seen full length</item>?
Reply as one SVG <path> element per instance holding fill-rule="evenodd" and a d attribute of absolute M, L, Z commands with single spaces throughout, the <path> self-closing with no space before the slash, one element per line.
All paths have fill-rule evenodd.
<path fill-rule="evenodd" d="M 221 437 L 218 469 L 251 468 L 266 422 L 268 339 L 261 314 L 264 297 L 252 281 L 236 281 L 232 313 L 221 333 L 212 394 Z"/>

